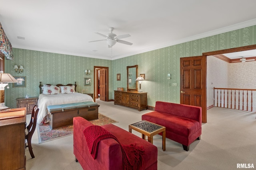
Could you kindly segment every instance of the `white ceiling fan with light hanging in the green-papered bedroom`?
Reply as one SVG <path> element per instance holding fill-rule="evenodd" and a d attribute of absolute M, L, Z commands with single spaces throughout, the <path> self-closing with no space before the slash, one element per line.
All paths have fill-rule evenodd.
<path fill-rule="evenodd" d="M 124 41 L 121 40 L 122 38 L 127 38 L 130 37 L 130 34 L 124 34 L 124 35 L 117 35 L 112 33 L 112 31 L 114 30 L 113 27 L 110 27 L 109 30 L 111 31 L 110 33 L 108 33 L 107 35 L 101 34 L 101 33 L 96 33 L 98 35 L 101 35 L 102 37 L 105 37 L 106 39 L 101 39 L 101 40 L 96 40 L 96 41 L 107 41 L 108 44 L 108 48 L 111 48 L 113 45 L 116 44 L 116 42 L 118 43 L 122 43 L 122 44 L 126 44 L 126 45 L 132 45 L 132 43 L 128 42 L 128 41 Z M 89 41 L 89 43 L 91 42 L 95 42 L 95 41 Z"/>

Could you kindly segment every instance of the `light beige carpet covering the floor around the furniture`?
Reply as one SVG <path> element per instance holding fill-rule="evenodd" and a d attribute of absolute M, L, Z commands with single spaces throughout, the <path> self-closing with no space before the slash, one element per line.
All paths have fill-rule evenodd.
<path fill-rule="evenodd" d="M 99 112 L 118 121 L 115 125 L 128 131 L 128 125 L 141 120 L 150 110 L 136 109 L 102 102 Z M 213 107 L 208 110 L 208 123 L 202 125 L 200 141 L 194 141 L 186 152 L 182 145 L 166 139 L 162 151 L 162 136 L 154 136 L 158 147 L 158 170 L 233 170 L 236 164 L 254 164 L 256 167 L 256 113 Z M 27 115 L 27 121 L 30 115 Z M 27 170 L 82 170 L 75 162 L 73 135 L 38 144 L 35 131 L 32 147 L 35 158 L 26 149 Z M 135 135 L 141 134 L 133 131 Z"/>

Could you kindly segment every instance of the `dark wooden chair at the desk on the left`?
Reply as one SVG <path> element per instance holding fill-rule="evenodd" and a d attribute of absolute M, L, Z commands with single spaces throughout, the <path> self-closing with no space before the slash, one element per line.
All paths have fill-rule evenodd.
<path fill-rule="evenodd" d="M 35 156 L 34 156 L 34 153 L 32 151 L 31 138 L 32 138 L 32 135 L 33 135 L 33 133 L 36 129 L 36 120 L 37 120 L 38 111 L 39 111 L 39 109 L 35 105 L 33 107 L 32 113 L 31 113 L 30 123 L 25 129 L 25 142 L 27 141 L 27 143 L 28 143 L 28 145 L 26 145 L 26 143 L 25 143 L 25 147 L 26 148 L 28 147 L 28 150 L 29 150 L 30 155 L 31 155 L 32 158 L 34 158 Z"/>

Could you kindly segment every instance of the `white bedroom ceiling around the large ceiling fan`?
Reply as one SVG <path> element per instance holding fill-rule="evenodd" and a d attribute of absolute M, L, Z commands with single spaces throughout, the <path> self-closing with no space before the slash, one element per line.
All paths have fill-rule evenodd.
<path fill-rule="evenodd" d="M 119 59 L 256 25 L 256 0 L 0 0 L 12 47 Z M 95 32 L 130 34 L 108 48 Z M 18 39 L 24 37 L 25 39 Z"/>

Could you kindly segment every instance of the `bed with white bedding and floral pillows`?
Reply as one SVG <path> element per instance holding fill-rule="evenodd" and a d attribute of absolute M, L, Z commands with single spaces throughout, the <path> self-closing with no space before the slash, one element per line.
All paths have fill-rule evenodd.
<path fill-rule="evenodd" d="M 76 82 L 75 84 L 42 84 L 39 85 L 40 94 L 38 97 L 38 123 L 49 123 L 52 121 L 50 119 L 48 106 L 61 105 L 61 104 L 74 104 L 78 102 L 94 102 L 93 98 L 87 94 L 81 94 L 76 92 Z M 76 112 L 75 109 L 73 109 Z M 65 114 L 69 114 L 68 111 L 63 111 Z M 79 111 L 78 111 L 79 112 Z M 57 114 L 56 114 L 57 115 Z M 63 114 L 64 115 L 64 114 Z M 60 115 L 58 115 L 60 116 Z M 65 115 L 66 116 L 66 115 Z M 80 116 L 80 115 L 79 115 Z M 98 117 L 98 108 L 97 108 Z M 72 117 L 70 117 L 72 119 Z"/>

